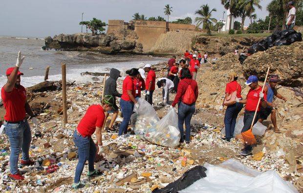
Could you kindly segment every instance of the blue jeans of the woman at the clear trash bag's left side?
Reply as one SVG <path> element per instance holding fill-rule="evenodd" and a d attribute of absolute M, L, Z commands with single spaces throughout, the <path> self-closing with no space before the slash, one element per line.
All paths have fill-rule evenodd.
<path fill-rule="evenodd" d="M 133 102 L 126 101 L 121 98 L 120 107 L 121 107 L 122 114 L 123 114 L 123 121 L 121 122 L 120 127 L 119 127 L 119 133 L 118 133 L 119 136 L 122 135 L 123 133 L 124 134 L 127 133 L 127 128 L 129 126 L 129 122 L 130 122 L 130 116 L 131 116 L 132 110 L 133 110 Z"/>

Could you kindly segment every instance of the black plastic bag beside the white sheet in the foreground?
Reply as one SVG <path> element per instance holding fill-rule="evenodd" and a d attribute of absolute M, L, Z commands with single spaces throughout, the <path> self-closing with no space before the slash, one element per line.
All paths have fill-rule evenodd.
<path fill-rule="evenodd" d="M 180 190 L 183 190 L 195 181 L 206 177 L 205 171 L 207 169 L 203 166 L 195 166 L 194 168 L 186 171 L 179 179 L 170 183 L 165 188 L 155 189 L 152 193 L 177 193 Z"/>

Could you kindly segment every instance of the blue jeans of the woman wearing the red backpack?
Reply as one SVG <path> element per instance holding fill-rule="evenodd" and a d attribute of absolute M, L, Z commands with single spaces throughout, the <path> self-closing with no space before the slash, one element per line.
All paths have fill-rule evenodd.
<path fill-rule="evenodd" d="M 184 137 L 183 124 L 185 121 L 185 140 L 190 141 L 191 119 L 195 113 L 195 104 L 187 105 L 183 102 L 178 103 L 178 127 L 181 133 L 181 139 Z"/>

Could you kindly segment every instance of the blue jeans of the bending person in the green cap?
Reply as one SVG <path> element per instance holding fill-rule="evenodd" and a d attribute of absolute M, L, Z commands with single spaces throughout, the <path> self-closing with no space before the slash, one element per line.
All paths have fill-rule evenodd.
<path fill-rule="evenodd" d="M 88 160 L 88 170 L 89 172 L 95 171 L 94 161 L 96 155 L 96 145 L 91 137 L 82 135 L 77 133 L 77 129 L 74 133 L 74 143 L 78 147 L 78 164 L 76 167 L 75 179 L 74 182 L 78 183 L 80 181 L 81 174 L 84 169 L 85 162 Z"/>

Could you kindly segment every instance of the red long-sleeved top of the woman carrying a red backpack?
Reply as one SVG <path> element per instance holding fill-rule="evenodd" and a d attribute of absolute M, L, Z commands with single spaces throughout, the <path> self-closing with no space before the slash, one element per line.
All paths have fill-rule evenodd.
<path fill-rule="evenodd" d="M 190 78 L 183 78 L 180 80 L 177 88 L 177 94 L 174 97 L 172 106 L 174 107 L 179 101 L 183 100 L 184 94 L 187 90 L 188 85 L 191 85 L 194 93 L 195 93 L 195 100 L 198 98 L 198 85 L 197 82 Z"/>

